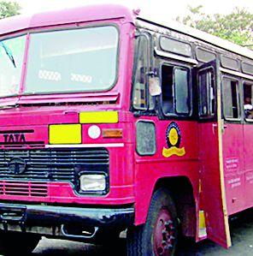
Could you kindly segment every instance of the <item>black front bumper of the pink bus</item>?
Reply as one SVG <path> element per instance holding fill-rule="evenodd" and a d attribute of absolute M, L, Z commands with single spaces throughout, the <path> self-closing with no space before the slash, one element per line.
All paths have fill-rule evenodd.
<path fill-rule="evenodd" d="M 71 240 L 90 240 L 109 230 L 119 233 L 133 222 L 133 207 L 104 209 L 0 203 L 0 229 L 5 232 L 31 232 Z"/>

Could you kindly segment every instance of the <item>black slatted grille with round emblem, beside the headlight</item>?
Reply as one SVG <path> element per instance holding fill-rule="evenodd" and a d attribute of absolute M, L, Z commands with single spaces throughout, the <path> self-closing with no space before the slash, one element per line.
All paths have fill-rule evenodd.
<path fill-rule="evenodd" d="M 25 171 L 10 168 L 13 159 L 26 163 Z M 0 152 L 0 180 L 76 182 L 79 171 L 109 172 L 105 148 L 4 150 Z"/>

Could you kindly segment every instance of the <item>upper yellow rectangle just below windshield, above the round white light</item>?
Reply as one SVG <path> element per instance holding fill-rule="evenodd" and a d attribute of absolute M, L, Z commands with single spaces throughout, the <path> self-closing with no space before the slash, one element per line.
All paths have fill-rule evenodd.
<path fill-rule="evenodd" d="M 119 122 L 119 113 L 117 111 L 93 111 L 80 112 L 80 123 L 116 123 Z"/>

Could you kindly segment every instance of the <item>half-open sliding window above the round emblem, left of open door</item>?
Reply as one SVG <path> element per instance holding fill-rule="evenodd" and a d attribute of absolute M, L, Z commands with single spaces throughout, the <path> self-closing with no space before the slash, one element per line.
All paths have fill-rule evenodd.
<path fill-rule="evenodd" d="M 164 115 L 190 114 L 189 70 L 162 65 L 162 112 Z"/>

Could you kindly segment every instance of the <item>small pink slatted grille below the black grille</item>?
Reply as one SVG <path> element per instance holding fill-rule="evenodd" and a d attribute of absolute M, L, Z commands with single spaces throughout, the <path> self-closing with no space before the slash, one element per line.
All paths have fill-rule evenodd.
<path fill-rule="evenodd" d="M 46 182 L 0 181 L 0 195 L 46 197 L 48 186 Z"/>

